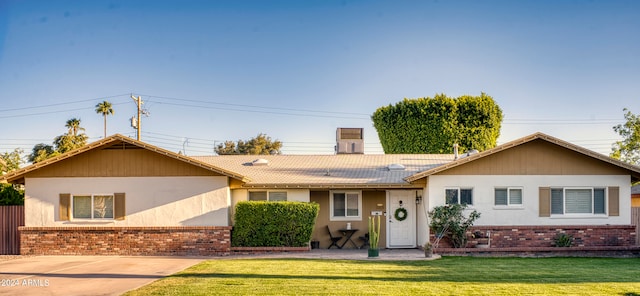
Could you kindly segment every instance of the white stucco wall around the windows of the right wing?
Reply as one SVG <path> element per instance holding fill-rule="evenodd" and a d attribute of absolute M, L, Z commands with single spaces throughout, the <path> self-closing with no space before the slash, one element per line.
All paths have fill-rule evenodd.
<path fill-rule="evenodd" d="M 475 225 L 629 225 L 629 176 L 446 176 L 429 177 L 423 206 L 429 210 L 445 204 L 445 188 L 473 188 L 473 206 L 481 217 Z M 539 217 L 539 187 L 620 187 L 620 216 Z M 521 187 L 522 207 L 494 206 L 496 187 Z M 607 209 L 608 211 L 608 209 Z"/>

